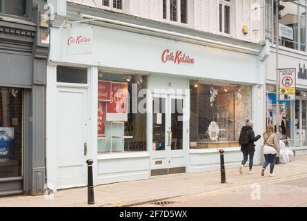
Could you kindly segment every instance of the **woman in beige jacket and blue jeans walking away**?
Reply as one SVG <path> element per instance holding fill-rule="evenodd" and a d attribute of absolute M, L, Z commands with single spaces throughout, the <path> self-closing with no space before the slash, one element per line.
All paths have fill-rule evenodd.
<path fill-rule="evenodd" d="M 264 166 L 262 167 L 261 175 L 264 176 L 264 171 L 266 171 L 266 166 L 270 164 L 270 177 L 275 177 L 273 173 L 275 167 L 275 158 L 277 153 L 280 153 L 279 141 L 274 133 L 274 126 L 272 124 L 268 125 L 266 133 L 264 133 Z"/>

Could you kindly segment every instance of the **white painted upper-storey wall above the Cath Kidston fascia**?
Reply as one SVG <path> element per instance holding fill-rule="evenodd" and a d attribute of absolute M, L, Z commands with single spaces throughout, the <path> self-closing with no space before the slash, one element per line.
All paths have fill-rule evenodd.
<path fill-rule="evenodd" d="M 102 6 L 102 0 L 67 1 L 105 10 L 113 10 L 112 8 Z M 123 0 L 123 10 L 113 11 L 222 35 L 219 32 L 218 0 L 188 0 L 187 25 L 163 19 L 162 2 L 162 0 Z M 264 36 L 263 11 L 263 1 L 261 0 L 232 0 L 231 34 L 226 36 L 252 42 L 262 40 Z M 248 26 L 249 31 L 247 35 L 244 35 L 242 32 L 243 25 Z"/>

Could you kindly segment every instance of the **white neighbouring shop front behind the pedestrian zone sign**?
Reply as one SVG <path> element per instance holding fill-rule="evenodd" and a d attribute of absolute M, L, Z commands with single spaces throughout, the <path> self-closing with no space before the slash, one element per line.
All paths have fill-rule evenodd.
<path fill-rule="evenodd" d="M 307 153 L 306 144 L 306 108 L 307 108 L 307 77 L 306 55 L 282 48 L 279 52 L 279 68 L 296 69 L 296 99 L 295 101 L 280 101 L 276 110 L 276 54 L 271 47 L 271 55 L 266 68 L 266 124 L 273 124 L 281 135 L 280 139 L 286 146 L 293 148 L 295 155 Z M 277 112 L 279 122 L 276 122 Z"/>

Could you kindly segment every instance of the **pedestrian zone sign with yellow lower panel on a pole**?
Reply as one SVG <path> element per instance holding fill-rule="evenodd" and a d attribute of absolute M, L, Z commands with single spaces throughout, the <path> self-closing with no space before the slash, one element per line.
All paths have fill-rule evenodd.
<path fill-rule="evenodd" d="M 279 100 L 295 100 L 296 69 L 279 69 Z"/>

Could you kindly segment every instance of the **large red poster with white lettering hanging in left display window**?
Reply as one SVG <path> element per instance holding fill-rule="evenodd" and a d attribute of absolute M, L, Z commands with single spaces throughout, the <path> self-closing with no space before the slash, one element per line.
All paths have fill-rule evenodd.
<path fill-rule="evenodd" d="M 128 121 L 128 84 L 112 82 L 111 101 L 107 103 L 107 121 Z"/>

